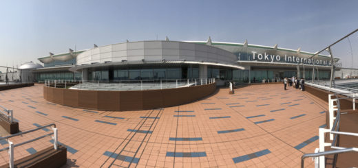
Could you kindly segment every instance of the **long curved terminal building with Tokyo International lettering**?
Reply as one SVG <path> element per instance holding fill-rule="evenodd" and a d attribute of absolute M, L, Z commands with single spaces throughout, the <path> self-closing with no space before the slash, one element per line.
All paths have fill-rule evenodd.
<path fill-rule="evenodd" d="M 39 58 L 36 82 L 44 80 L 176 80 L 215 77 L 218 85 L 277 81 L 283 77 L 329 79 L 330 56 L 300 49 L 207 41 L 151 40 L 105 45 Z M 336 69 L 339 70 L 339 69 Z"/>

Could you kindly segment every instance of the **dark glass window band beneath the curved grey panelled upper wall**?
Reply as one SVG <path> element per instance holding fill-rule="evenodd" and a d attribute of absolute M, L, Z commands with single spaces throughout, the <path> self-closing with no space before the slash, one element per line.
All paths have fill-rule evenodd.
<path fill-rule="evenodd" d="M 88 80 L 177 80 L 197 79 L 200 77 L 198 64 L 182 64 L 179 66 L 153 66 L 153 67 L 112 67 L 101 71 L 90 70 Z M 111 75 L 112 74 L 112 75 Z M 207 67 L 207 78 L 215 77 L 218 80 L 235 80 L 248 82 L 249 71 L 230 69 L 225 67 Z"/>

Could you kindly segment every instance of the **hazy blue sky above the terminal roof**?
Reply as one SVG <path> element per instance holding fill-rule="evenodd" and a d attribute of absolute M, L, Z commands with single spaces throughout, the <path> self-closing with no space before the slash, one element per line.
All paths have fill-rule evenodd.
<path fill-rule="evenodd" d="M 135 40 L 207 40 L 319 51 L 358 28 L 358 1 L 1 1 L 0 65 Z M 358 68 L 358 34 L 352 37 Z M 343 44 L 343 43 L 342 43 Z M 347 43 L 348 44 L 348 43 Z M 347 44 L 336 49 L 350 67 Z M 347 58 L 345 58 L 346 55 Z M 348 59 L 349 58 L 349 59 Z M 1 70 L 0 70 L 1 71 Z"/>

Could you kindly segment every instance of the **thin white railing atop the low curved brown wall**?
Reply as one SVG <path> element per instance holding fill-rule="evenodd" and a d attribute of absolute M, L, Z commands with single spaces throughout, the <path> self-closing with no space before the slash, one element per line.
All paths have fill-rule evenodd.
<path fill-rule="evenodd" d="M 67 88 L 67 80 L 46 80 L 45 86 Z M 75 84 L 74 84 L 75 83 Z M 215 78 L 177 79 L 177 80 L 112 80 L 112 81 L 79 81 L 71 82 L 74 89 L 90 90 L 135 90 L 180 88 L 215 83 Z"/>

